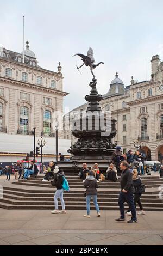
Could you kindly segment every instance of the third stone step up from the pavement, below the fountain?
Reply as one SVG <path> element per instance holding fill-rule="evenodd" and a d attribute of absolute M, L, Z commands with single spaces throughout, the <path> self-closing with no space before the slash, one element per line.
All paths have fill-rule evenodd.
<path fill-rule="evenodd" d="M 118 201 L 118 195 L 114 198 L 112 197 L 103 197 L 104 195 L 98 195 L 98 202 L 117 202 Z M 11 196 L 9 194 L 3 194 L 3 199 L 8 198 L 8 199 L 14 199 L 18 201 L 52 201 L 54 202 L 53 199 L 54 196 L 51 197 L 22 197 L 22 196 Z M 67 197 L 67 195 L 64 195 L 64 200 L 65 201 L 82 201 L 85 202 L 85 199 L 83 197 L 83 194 L 78 194 L 78 197 Z M 163 203 L 163 199 L 155 198 L 141 198 L 141 202 L 145 203 Z"/>

